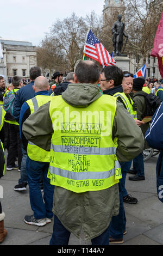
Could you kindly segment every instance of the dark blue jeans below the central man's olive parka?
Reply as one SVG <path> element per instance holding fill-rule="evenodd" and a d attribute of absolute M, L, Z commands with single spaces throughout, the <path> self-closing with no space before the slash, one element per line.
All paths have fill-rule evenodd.
<path fill-rule="evenodd" d="M 50 245 L 68 245 L 70 239 L 70 231 L 60 222 L 58 217 L 54 215 L 53 234 Z M 109 227 L 99 236 L 91 239 L 92 245 L 109 245 Z"/>

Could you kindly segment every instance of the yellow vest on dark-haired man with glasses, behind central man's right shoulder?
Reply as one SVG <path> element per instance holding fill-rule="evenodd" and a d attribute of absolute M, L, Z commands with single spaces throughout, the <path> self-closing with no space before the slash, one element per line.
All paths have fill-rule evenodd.
<path fill-rule="evenodd" d="M 131 101 L 130 102 L 125 93 L 115 93 L 113 96 L 116 97 L 117 99 L 118 97 L 121 97 L 124 103 L 124 106 L 126 106 L 126 109 L 130 113 L 131 117 L 133 117 L 133 119 L 137 119 L 137 112 L 134 111 L 133 109 L 134 102 L 131 98 L 130 98 L 130 101 Z"/>

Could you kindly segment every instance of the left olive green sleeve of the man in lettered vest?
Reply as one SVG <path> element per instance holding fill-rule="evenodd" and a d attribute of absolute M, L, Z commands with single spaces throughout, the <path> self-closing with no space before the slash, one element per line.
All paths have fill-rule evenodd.
<path fill-rule="evenodd" d="M 50 151 L 53 133 L 52 120 L 49 115 L 50 102 L 42 105 L 23 123 L 22 131 L 26 139 L 38 147 Z"/>

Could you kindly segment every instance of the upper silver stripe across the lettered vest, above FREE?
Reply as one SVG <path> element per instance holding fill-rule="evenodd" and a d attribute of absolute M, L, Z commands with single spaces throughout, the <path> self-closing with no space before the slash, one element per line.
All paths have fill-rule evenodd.
<path fill-rule="evenodd" d="M 51 143 L 51 149 L 54 152 L 58 153 L 79 153 L 80 155 L 115 155 L 116 148 L 95 148 L 95 147 L 77 147 L 77 146 L 70 146 L 70 145 L 53 145 Z"/>

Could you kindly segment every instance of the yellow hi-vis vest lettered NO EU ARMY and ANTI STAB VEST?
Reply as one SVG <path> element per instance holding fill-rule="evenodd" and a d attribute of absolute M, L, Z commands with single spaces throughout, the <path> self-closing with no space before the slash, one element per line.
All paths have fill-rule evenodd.
<path fill-rule="evenodd" d="M 116 99 L 102 95 L 87 107 L 73 107 L 61 95 L 52 97 L 49 114 L 51 184 L 76 193 L 111 187 L 122 178 L 112 140 Z"/>

